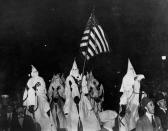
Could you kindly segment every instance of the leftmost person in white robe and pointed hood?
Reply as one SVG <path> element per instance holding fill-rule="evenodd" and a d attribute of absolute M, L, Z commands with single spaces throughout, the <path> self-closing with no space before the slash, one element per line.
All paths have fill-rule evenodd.
<path fill-rule="evenodd" d="M 23 96 L 24 106 L 29 108 L 26 114 L 33 115 L 32 117 L 35 122 L 40 124 L 41 131 L 56 130 L 49 102 L 47 101 L 45 81 L 39 76 L 37 69 L 33 65 L 31 78 L 27 82 L 27 88 Z"/>

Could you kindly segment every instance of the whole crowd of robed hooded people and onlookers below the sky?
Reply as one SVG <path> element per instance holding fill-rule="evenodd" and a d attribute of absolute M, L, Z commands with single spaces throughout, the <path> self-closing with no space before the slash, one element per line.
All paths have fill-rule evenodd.
<path fill-rule="evenodd" d="M 158 107 L 165 111 L 165 114 L 160 113 L 162 116 L 158 113 L 160 118 L 155 116 L 153 100 L 145 93 L 141 93 L 140 98 L 140 83 L 144 78 L 144 75 L 135 73 L 128 60 L 117 113 L 103 110 L 103 85 L 92 72 L 80 74 L 75 61 L 66 79 L 61 74 L 53 75 L 48 90 L 44 79 L 32 65 L 23 104 L 18 106 L 17 115 L 13 115 L 15 119 L 11 126 L 0 128 L 0 131 L 167 131 L 168 117 L 163 95 L 157 99 Z M 144 109 L 141 117 L 140 107 Z M 151 116 L 154 116 L 155 125 Z M 1 127 L 4 125 L 0 124 Z"/>

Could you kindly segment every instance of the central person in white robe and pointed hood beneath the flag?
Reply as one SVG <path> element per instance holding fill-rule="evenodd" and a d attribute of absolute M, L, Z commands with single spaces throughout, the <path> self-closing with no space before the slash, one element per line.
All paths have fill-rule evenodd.
<path fill-rule="evenodd" d="M 81 75 L 74 61 L 70 75 L 67 77 L 65 83 L 66 101 L 64 113 L 67 118 L 69 131 L 77 131 L 80 129 L 83 131 L 100 130 L 100 125 L 92 111 L 91 104 L 85 96 L 85 94 L 88 93 L 86 87 L 86 76 L 83 76 L 81 81 Z M 77 99 L 75 100 L 75 98 Z"/>

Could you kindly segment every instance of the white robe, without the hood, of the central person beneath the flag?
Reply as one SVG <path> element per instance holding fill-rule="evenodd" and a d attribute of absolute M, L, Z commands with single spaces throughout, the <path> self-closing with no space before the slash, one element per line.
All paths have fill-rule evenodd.
<path fill-rule="evenodd" d="M 71 75 L 69 75 L 66 79 L 65 84 L 66 101 L 64 105 L 64 113 L 67 114 L 66 118 L 67 118 L 68 131 L 77 131 L 79 117 L 83 125 L 83 131 L 100 130 L 100 125 L 96 118 L 96 115 L 92 110 L 92 106 L 87 97 L 84 95 L 84 93 L 87 92 L 87 90 L 84 89 L 86 86 L 85 77 L 83 80 L 84 80 L 82 83 L 83 92 L 80 95 L 78 85 L 75 83 L 74 78 Z M 80 98 L 79 113 L 77 110 L 77 106 L 73 101 L 73 98 L 75 96 L 79 96 Z"/>

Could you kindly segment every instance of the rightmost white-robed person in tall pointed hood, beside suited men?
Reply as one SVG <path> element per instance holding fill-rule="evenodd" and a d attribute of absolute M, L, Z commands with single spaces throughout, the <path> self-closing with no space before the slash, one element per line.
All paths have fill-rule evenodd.
<path fill-rule="evenodd" d="M 128 59 L 128 69 L 123 77 L 120 92 L 123 95 L 120 98 L 120 131 L 129 131 L 135 128 L 136 122 L 139 119 L 138 106 L 140 94 L 140 81 L 144 75 L 136 75 L 134 68 Z"/>

